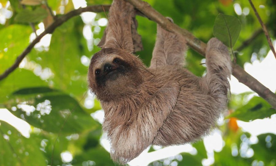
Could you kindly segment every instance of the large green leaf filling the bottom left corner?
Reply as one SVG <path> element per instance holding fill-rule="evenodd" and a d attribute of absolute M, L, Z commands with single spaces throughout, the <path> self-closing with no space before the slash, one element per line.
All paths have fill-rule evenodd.
<path fill-rule="evenodd" d="M 25 138 L 10 124 L 0 121 L 0 165 L 46 165 L 46 158 L 33 137 Z"/>

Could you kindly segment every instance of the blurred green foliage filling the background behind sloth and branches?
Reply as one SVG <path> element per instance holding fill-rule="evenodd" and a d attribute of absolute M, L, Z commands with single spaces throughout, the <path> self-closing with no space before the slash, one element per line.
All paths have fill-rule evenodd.
<path fill-rule="evenodd" d="M 87 5 L 112 3 L 111 0 L 86 2 Z M 237 53 L 237 63 L 242 67 L 246 62 L 262 61 L 270 50 L 247 0 L 147 2 L 204 42 L 213 37 L 214 21 L 219 13 L 238 18 L 242 29 L 234 51 Z M 36 37 L 33 29 L 40 34 L 44 26 L 47 27 L 53 20 L 42 0 L 0 0 L 0 3 L 0 73 L 3 73 Z M 271 38 L 275 39 L 276 1 L 255 0 L 253 3 Z M 85 3 L 78 0 L 48 0 L 48 6 L 57 17 L 74 10 L 74 5 L 78 8 L 78 4 Z M 149 65 L 156 23 L 141 16 L 136 18 L 144 46 L 144 50 L 136 54 Z M 52 35 L 46 35 L 20 67 L 0 81 L 0 119 L 1 116 L 4 118 L 1 112 L 8 109 L 14 116 L 30 124 L 31 129 L 26 137 L 9 123 L 0 121 L 0 166 L 50 165 L 51 160 L 53 165 L 60 166 L 115 165 L 109 152 L 100 144 L 100 138 L 104 136 L 101 121 L 97 120 L 100 112 L 96 111 L 101 107 L 89 93 L 86 83 L 89 61 L 100 50 L 96 45 L 106 23 L 104 13 L 85 13 L 82 17 L 71 18 Z M 252 35 L 255 35 L 253 40 L 241 47 Z M 205 72 L 205 66 L 201 65 L 203 58 L 189 49 L 186 67 L 195 75 L 202 76 Z M 274 73 L 264 74 L 272 77 Z M 275 110 L 262 98 L 252 98 L 251 92 L 232 94 L 228 109 L 222 120 L 224 122 L 217 126 L 221 131 L 223 148 L 211 155 L 214 159 L 212 162 L 202 162 L 210 158 L 210 154 L 207 156 L 206 145 L 199 141 L 192 145 L 197 153 L 181 153 L 150 165 L 275 165 L 276 135 L 261 134 L 255 138 L 258 141 L 252 142 L 251 134 L 237 125 L 237 119 L 245 122 L 263 119 L 275 116 Z M 67 119 L 68 115 L 70 117 Z M 155 150 L 151 147 L 149 153 Z M 247 154 L 252 154 L 252 151 L 253 155 Z"/>

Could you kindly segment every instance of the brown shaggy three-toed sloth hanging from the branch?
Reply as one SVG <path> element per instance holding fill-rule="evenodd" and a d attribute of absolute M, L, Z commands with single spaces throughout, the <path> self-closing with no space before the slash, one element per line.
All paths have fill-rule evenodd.
<path fill-rule="evenodd" d="M 134 17 L 132 5 L 113 1 L 102 50 L 92 57 L 88 72 L 89 87 L 105 112 L 102 127 L 111 157 L 120 164 L 151 144 L 185 144 L 207 134 L 227 108 L 230 88 L 230 56 L 216 38 L 207 44 L 207 74 L 196 77 L 183 67 L 185 38 L 157 26 L 146 68 L 132 54 Z"/>

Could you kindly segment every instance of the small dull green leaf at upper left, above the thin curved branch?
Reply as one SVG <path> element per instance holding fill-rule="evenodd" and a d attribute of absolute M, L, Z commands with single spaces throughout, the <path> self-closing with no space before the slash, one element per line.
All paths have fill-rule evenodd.
<path fill-rule="evenodd" d="M 48 16 L 47 10 L 38 7 L 35 10 L 24 9 L 15 16 L 15 21 L 19 23 L 40 22 Z"/>

